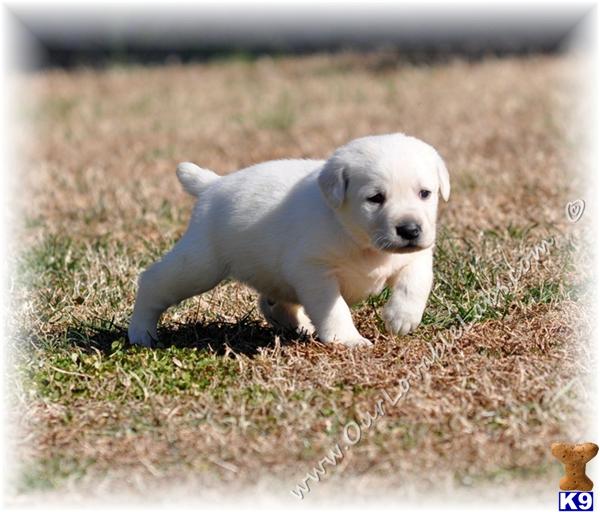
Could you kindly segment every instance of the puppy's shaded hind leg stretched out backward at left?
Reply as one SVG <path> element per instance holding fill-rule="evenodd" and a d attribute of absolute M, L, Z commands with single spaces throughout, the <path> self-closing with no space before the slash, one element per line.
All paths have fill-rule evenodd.
<path fill-rule="evenodd" d="M 140 275 L 129 341 L 152 346 L 158 339 L 158 320 L 169 306 L 214 288 L 225 274 L 208 244 L 184 235 L 169 253 Z"/>

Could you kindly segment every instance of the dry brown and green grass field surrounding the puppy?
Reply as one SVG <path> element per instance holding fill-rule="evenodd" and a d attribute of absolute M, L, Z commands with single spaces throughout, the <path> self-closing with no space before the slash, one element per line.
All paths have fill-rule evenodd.
<path fill-rule="evenodd" d="M 344 425 L 412 375 L 308 499 L 432 482 L 540 485 L 554 499 L 549 444 L 585 431 L 590 365 L 589 222 L 564 210 L 586 192 L 574 66 L 340 55 L 22 77 L 13 495 L 270 481 L 295 500 Z M 191 211 L 178 162 L 228 173 L 391 131 L 438 148 L 452 182 L 416 332 L 385 333 L 384 292 L 353 309 L 374 348 L 291 339 L 261 319 L 252 290 L 228 282 L 170 310 L 162 348 L 127 346 L 135 279 Z M 415 376 L 440 336 L 449 349 Z"/>

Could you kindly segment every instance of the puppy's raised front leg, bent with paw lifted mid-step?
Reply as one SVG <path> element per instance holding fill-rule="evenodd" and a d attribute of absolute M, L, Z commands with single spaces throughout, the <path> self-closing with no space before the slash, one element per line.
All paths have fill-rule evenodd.
<path fill-rule="evenodd" d="M 392 297 L 383 308 L 388 332 L 408 334 L 421 323 L 433 283 L 433 251 L 415 255 L 391 280 Z"/>

